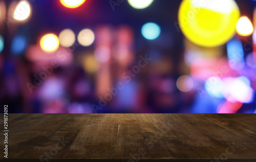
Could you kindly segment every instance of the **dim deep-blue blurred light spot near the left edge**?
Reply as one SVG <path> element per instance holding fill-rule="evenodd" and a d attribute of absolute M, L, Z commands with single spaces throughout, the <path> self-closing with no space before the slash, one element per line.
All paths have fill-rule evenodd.
<path fill-rule="evenodd" d="M 11 45 L 11 52 L 13 54 L 22 54 L 27 46 L 27 42 L 24 36 L 14 37 Z"/>

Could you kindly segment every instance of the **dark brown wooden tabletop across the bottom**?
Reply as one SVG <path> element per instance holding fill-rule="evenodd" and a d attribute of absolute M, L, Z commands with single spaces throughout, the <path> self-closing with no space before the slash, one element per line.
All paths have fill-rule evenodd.
<path fill-rule="evenodd" d="M 256 114 L 9 114 L 8 126 L 9 161 L 256 161 Z"/>

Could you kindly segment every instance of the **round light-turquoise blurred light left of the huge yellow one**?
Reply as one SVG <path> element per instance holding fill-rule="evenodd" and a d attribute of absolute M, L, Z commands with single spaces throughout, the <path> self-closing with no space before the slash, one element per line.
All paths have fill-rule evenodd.
<path fill-rule="evenodd" d="M 153 40 L 160 35 L 161 29 L 157 24 L 153 22 L 148 22 L 143 25 L 141 33 L 146 39 Z"/>

